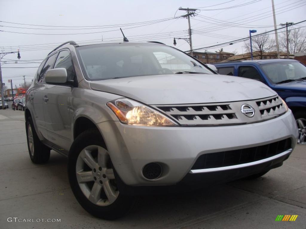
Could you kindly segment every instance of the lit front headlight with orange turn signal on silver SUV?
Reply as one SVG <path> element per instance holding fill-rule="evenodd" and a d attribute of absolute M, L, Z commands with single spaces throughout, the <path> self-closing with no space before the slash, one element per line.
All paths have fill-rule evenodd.
<path fill-rule="evenodd" d="M 118 99 L 107 103 L 122 123 L 150 126 L 177 126 L 170 118 L 130 99 Z"/>

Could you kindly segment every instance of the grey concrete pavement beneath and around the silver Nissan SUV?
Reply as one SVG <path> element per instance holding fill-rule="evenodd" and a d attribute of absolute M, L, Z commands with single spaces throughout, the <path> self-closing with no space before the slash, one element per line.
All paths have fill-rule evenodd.
<path fill-rule="evenodd" d="M 106 221 L 76 201 L 67 158 L 51 151 L 47 164 L 31 162 L 24 111 L 9 107 L 0 110 L 0 228 L 306 228 L 306 145 L 297 145 L 283 166 L 256 180 L 141 196 L 128 215 Z M 275 221 L 278 215 L 298 216 Z M 60 222 L 43 222 L 48 219 Z"/>

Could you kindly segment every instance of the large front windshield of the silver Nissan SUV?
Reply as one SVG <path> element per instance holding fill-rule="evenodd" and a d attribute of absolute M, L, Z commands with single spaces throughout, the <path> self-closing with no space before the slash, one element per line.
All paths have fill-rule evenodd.
<path fill-rule="evenodd" d="M 115 43 L 77 47 L 88 80 L 195 72 L 213 74 L 201 62 L 166 45 Z"/>

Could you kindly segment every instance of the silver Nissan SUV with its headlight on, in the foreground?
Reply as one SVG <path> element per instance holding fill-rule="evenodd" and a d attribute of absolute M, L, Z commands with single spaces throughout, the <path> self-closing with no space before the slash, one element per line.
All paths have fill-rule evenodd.
<path fill-rule="evenodd" d="M 68 156 L 76 199 L 104 219 L 138 193 L 262 176 L 298 136 L 268 86 L 152 42 L 58 46 L 26 93 L 25 120 L 31 160 Z"/>

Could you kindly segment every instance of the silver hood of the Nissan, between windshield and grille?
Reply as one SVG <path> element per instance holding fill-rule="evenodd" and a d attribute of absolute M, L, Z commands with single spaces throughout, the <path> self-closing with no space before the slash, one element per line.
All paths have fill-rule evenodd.
<path fill-rule="evenodd" d="M 168 74 L 91 81 L 91 89 L 149 105 L 218 103 L 276 95 L 263 83 L 215 74 Z"/>

